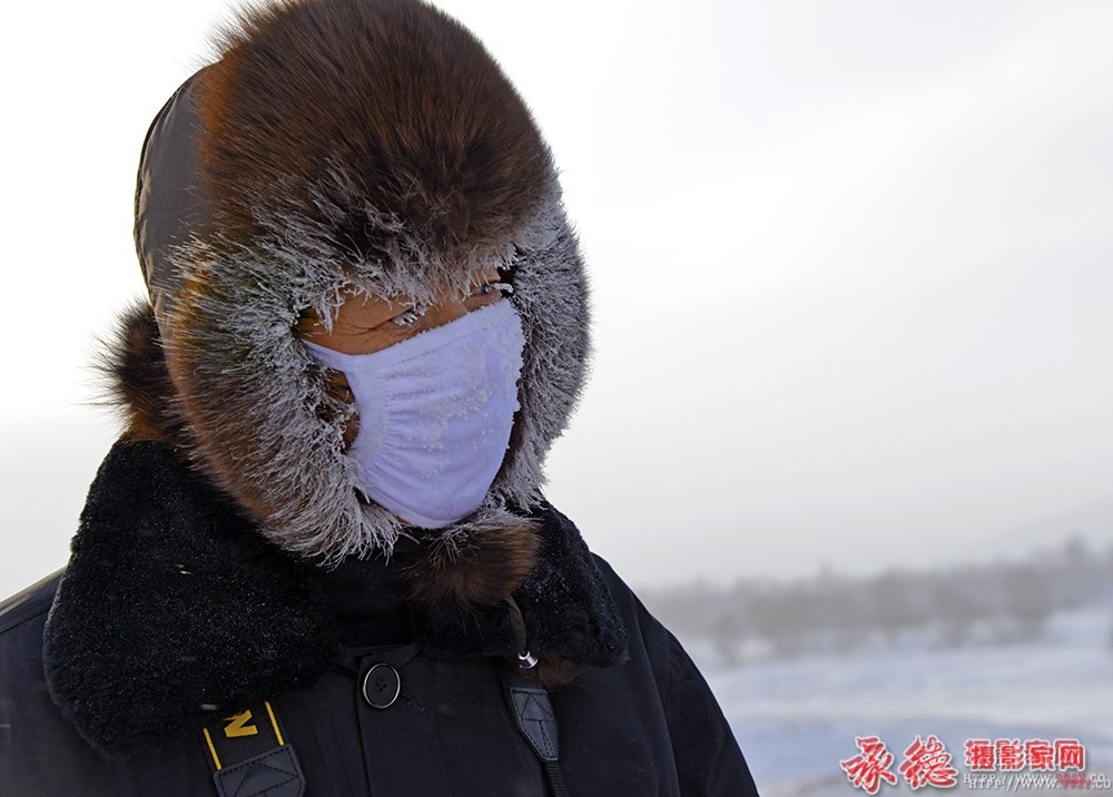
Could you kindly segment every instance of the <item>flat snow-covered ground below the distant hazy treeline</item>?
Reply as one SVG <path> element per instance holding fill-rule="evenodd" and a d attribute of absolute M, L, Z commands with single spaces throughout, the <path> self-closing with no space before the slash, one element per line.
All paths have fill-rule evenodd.
<path fill-rule="evenodd" d="M 917 735 L 938 737 L 958 770 L 952 793 L 986 790 L 962 783 L 971 738 L 1076 738 L 1086 748 L 1086 774 L 1113 779 L 1111 630 L 1106 603 L 1054 616 L 1034 642 L 767 660 L 709 672 L 708 680 L 765 797 L 865 794 L 839 761 L 858 752 L 856 736 L 873 735 L 895 756 L 894 773 Z M 898 776 L 878 794 L 912 789 Z M 1096 794 L 1113 797 L 1113 789 Z"/>

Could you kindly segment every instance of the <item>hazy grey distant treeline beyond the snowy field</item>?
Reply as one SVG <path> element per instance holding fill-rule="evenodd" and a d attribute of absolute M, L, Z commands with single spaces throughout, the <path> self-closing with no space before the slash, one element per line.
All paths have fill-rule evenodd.
<path fill-rule="evenodd" d="M 904 643 L 1007 643 L 1036 638 L 1057 611 L 1113 596 L 1113 545 L 1099 551 L 1072 539 L 1014 562 L 641 592 L 703 663 Z"/>

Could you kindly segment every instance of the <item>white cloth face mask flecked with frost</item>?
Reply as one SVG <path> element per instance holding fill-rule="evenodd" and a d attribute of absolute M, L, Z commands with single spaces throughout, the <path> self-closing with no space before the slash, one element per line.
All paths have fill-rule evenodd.
<path fill-rule="evenodd" d="M 510 443 L 524 345 L 506 299 L 372 354 L 306 341 L 355 395 L 348 456 L 367 498 L 426 529 L 479 509 Z"/>

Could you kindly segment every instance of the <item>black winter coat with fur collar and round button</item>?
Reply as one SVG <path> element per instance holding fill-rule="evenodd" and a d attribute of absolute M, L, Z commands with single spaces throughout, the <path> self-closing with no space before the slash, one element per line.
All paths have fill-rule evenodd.
<path fill-rule="evenodd" d="M 142 489 L 134 478 L 140 471 Z M 150 484 L 156 484 L 154 495 Z M 216 795 L 216 750 L 210 752 L 200 727 L 207 726 L 217 736 L 229 727 L 233 735 L 236 727 L 243 729 L 242 735 L 273 727 L 262 716 L 264 699 L 270 700 L 284 741 L 296 752 L 306 797 L 549 794 L 542 764 L 509 708 L 506 669 L 500 658 L 483 655 L 484 646 L 499 637 L 499 624 L 480 618 L 470 641 L 454 648 L 431 641 L 443 639 L 431 631 L 436 620 L 420 618 L 401 597 L 390 598 L 394 589 L 390 565 L 372 573 L 373 565 L 352 563 L 327 575 L 314 569 L 316 581 L 306 582 L 311 583 L 308 592 L 318 608 L 334 617 L 329 632 L 338 641 L 327 650 L 326 666 L 312 682 L 290 689 L 280 679 L 267 681 L 269 676 L 253 681 L 254 670 L 240 672 L 253 669 L 249 661 L 237 660 L 233 653 L 214 671 L 219 676 L 223 670 L 234 682 L 227 693 L 235 697 L 225 698 L 219 707 L 200 706 L 201 714 L 196 716 L 176 707 L 175 700 L 195 686 L 184 673 L 207 682 L 207 693 L 219 691 L 210 672 L 196 671 L 196 661 L 181 665 L 193 657 L 175 656 L 201 645 L 206 633 L 219 637 L 221 645 L 243 647 L 248 656 L 260 657 L 259 651 L 266 650 L 260 639 L 279 640 L 283 627 L 294 627 L 299 634 L 305 631 L 297 619 L 301 608 L 284 616 L 265 589 L 255 589 L 262 578 L 259 558 L 278 554 L 250 549 L 254 537 L 240 541 L 250 549 L 247 553 L 237 554 L 238 560 L 233 557 L 235 561 L 226 562 L 228 569 L 219 578 L 203 586 L 205 600 L 196 593 L 171 594 L 179 582 L 194 589 L 195 580 L 181 575 L 188 568 L 197 568 L 206 578 L 211 574 L 211 561 L 204 559 L 201 549 L 208 547 L 207 552 L 214 553 L 211 547 L 223 544 L 219 535 L 238 533 L 229 530 L 227 520 L 214 522 L 230 510 L 206 490 L 162 446 L 117 446 L 90 492 L 68 572 L 3 604 L 0 795 Z M 567 519 L 551 509 L 548 513 L 550 533 L 564 534 L 568 550 L 584 557 L 578 565 L 568 565 L 573 554 L 558 562 L 562 567 L 554 571 L 555 580 L 542 591 L 551 593 L 564 579 L 572 583 L 564 593 L 568 604 L 580 602 L 589 613 L 603 614 L 610 607 L 613 617 L 604 617 L 597 626 L 621 626 L 626 647 L 617 663 L 591 667 L 551 692 L 559 767 L 568 793 L 572 797 L 756 794 L 722 712 L 676 638 L 604 562 L 587 554 Z M 187 530 L 190 539 L 201 538 L 194 548 L 189 548 L 193 542 L 184 542 Z M 189 550 L 183 550 L 184 544 Z M 550 542 L 548 550 L 556 555 L 561 548 Z M 168 555 L 180 560 L 173 563 L 178 581 L 160 583 L 156 567 L 160 551 L 174 551 Z M 214 555 L 227 560 L 228 550 L 220 548 Z M 119 567 L 121 558 L 129 563 Z M 200 572 L 206 565 L 209 569 Z M 588 569 L 583 578 L 590 587 L 578 593 L 575 571 L 581 567 Z M 377 583 L 376 590 L 354 587 L 368 579 Z M 248 591 L 250 600 L 224 602 L 213 584 L 226 591 Z M 114 603 L 117 593 L 131 603 Z M 288 608 L 293 599 L 289 594 L 284 599 Z M 519 602 L 526 622 L 543 628 L 545 610 L 539 608 L 543 601 L 523 592 Z M 52 603 L 48 683 L 43 629 Z M 145 604 L 157 614 L 140 610 L 129 620 L 129 607 Z M 129 627 L 132 620 L 135 628 Z M 613 628 L 585 633 L 605 642 Z M 575 642 L 580 632 L 568 628 L 545 633 L 549 641 L 535 640 L 542 648 L 592 645 L 582 639 Z M 286 645 L 296 647 L 296 640 L 289 639 Z M 373 643 L 356 646 L 357 640 Z M 285 656 L 294 670 L 313 671 L 312 666 L 306 669 L 304 661 L 295 660 L 298 651 L 289 652 L 282 645 L 272 648 L 282 648 L 269 651 L 273 659 L 282 662 Z M 211 650 L 204 645 L 197 649 Z M 386 683 L 380 683 L 387 698 L 397 687 L 397 699 L 386 708 L 370 705 L 361 688 L 376 665 L 393 668 L 376 670 L 390 676 Z M 393 672 L 397 685 L 391 680 Z M 377 681 L 373 678 L 372 682 Z M 376 699 L 374 693 L 372 699 Z M 240 714 L 239 720 L 229 719 L 248 705 L 256 711 L 252 718 Z M 95 749 L 77 727 L 109 755 Z M 276 788 L 269 794 L 285 793 Z"/>

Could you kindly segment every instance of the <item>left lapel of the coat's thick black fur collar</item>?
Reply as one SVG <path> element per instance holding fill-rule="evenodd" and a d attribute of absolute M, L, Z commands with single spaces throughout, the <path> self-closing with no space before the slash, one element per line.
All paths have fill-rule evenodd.
<path fill-rule="evenodd" d="M 118 444 L 73 538 L 46 673 L 86 739 L 122 749 L 313 683 L 332 624 L 304 569 L 168 449 Z"/>

